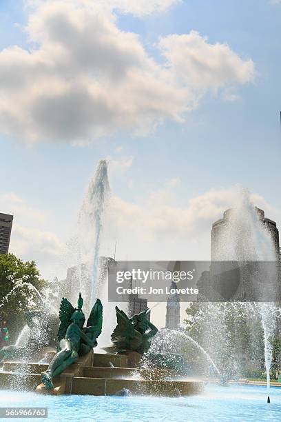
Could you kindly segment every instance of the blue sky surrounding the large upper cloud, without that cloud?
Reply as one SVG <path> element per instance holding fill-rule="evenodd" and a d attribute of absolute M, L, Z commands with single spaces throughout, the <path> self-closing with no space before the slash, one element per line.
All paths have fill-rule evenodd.
<path fill-rule="evenodd" d="M 20 1 L 1 2 L 1 50 L 11 46 L 40 48 L 37 40 L 28 41 L 23 30 L 30 13 L 30 9 L 23 10 Z M 114 133 L 93 136 L 87 145 L 72 145 L 70 139 L 54 134 L 46 140 L 41 133 L 30 143 L 28 135 L 13 132 L 16 116 L 12 128 L 0 134 L 1 211 L 14 212 L 19 224 L 12 251 L 23 259 L 36 259 L 46 277 L 53 275 L 52 260 L 70 237 L 87 183 L 103 158 L 110 161 L 115 198 L 105 223 L 105 253 L 110 253 L 117 239 L 121 258 L 132 257 L 130 250 L 137 243 L 136 254 L 141 259 L 147 254 L 150 259 L 208 259 L 211 222 L 233 205 L 229 192 L 237 184 L 249 188 L 255 203 L 280 226 L 281 4 L 269 0 L 184 0 L 163 12 L 141 17 L 110 13 L 117 16 L 118 30 L 138 34 L 138 42 L 158 64 L 165 62 L 155 46 L 160 37 L 196 30 L 210 45 L 227 43 L 241 61 L 251 59 L 254 77 L 237 78 L 217 93 L 209 88 L 201 92 L 196 86 L 198 106 L 183 112 L 183 121 L 170 119 L 169 108 L 169 113 L 165 110 L 167 119 L 161 114 L 162 123 L 144 136 L 136 136 L 131 125 L 129 130 L 117 128 Z M 174 47 L 169 50 L 173 51 Z M 117 89 L 118 79 L 114 83 Z M 5 98 L 13 108 L 16 97 L 7 92 Z M 119 100 L 126 101 L 122 96 Z M 164 102 L 169 103 L 169 97 Z M 142 124 L 145 126 L 145 121 Z M 190 203 L 192 199 L 196 205 Z M 124 212 L 123 217 L 117 219 L 115 214 L 114 218 L 114 212 Z M 149 221 L 143 230 L 139 215 Z M 190 219 L 188 224 L 185 215 Z M 48 245 L 42 240 L 46 232 Z M 28 239 L 32 239 L 33 248 Z"/>

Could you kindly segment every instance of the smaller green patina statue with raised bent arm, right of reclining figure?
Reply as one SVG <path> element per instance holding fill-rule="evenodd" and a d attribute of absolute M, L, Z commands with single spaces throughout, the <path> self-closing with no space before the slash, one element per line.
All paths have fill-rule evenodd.
<path fill-rule="evenodd" d="M 158 332 L 158 329 L 148 319 L 147 314 L 150 310 L 147 308 L 140 314 L 132 318 L 116 306 L 117 325 L 112 332 L 112 343 L 116 352 L 138 352 L 146 353 L 150 348 L 152 337 Z"/>

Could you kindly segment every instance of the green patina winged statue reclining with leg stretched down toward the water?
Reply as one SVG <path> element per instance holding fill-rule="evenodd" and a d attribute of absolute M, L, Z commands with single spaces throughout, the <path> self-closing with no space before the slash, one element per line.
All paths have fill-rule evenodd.
<path fill-rule="evenodd" d="M 50 362 L 48 370 L 42 372 L 42 383 L 45 388 L 52 390 L 52 383 L 55 376 L 61 374 L 67 366 L 76 362 L 79 356 L 83 356 L 96 347 L 96 338 L 101 334 L 103 324 L 103 305 L 99 299 L 90 312 L 87 326 L 85 323 L 85 315 L 82 311 L 83 299 L 81 293 L 78 299 L 78 308 L 73 308 L 72 304 L 63 298 L 59 310 L 58 352 Z"/>

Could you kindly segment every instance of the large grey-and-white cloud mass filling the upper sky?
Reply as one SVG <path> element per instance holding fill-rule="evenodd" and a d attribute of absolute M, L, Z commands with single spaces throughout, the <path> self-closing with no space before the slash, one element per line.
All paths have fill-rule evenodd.
<path fill-rule="evenodd" d="M 26 31 L 30 50 L 0 52 L 0 125 L 29 142 L 146 134 L 166 119 L 183 121 L 208 90 L 253 79 L 251 60 L 194 31 L 161 38 L 166 63 L 156 62 L 137 34 L 90 1 L 43 2 Z"/>

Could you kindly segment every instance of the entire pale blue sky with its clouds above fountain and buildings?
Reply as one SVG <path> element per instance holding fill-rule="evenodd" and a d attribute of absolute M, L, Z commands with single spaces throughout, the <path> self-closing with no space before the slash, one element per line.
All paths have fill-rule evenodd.
<path fill-rule="evenodd" d="M 100 159 L 116 259 L 209 259 L 238 186 L 280 227 L 280 17 L 278 0 L 1 2 L 10 252 L 65 277 Z"/>

